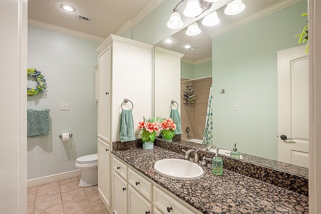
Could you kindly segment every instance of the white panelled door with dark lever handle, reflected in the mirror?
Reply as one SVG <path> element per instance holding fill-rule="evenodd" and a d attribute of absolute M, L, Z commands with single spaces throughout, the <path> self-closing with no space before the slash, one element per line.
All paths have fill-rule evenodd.
<path fill-rule="evenodd" d="M 278 161 L 308 167 L 308 56 L 305 45 L 277 52 L 277 76 Z"/>

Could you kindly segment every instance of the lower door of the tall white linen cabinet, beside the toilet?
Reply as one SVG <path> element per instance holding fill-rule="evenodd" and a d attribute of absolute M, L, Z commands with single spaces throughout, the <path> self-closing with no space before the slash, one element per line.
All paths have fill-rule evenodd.
<path fill-rule="evenodd" d="M 98 191 L 111 208 L 111 151 L 110 146 L 98 139 Z"/>

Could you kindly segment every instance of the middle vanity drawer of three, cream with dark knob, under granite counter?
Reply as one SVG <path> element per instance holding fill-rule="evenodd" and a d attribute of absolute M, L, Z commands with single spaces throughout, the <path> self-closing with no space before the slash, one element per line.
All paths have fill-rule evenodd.
<path fill-rule="evenodd" d="M 151 183 L 130 168 L 128 169 L 128 183 L 131 184 L 138 192 L 140 192 L 143 196 L 145 196 L 149 201 L 151 201 L 152 199 Z"/>

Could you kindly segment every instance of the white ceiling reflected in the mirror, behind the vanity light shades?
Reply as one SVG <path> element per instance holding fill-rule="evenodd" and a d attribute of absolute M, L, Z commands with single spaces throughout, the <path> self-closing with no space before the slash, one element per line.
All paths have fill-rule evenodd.
<path fill-rule="evenodd" d="M 252 16 L 254 13 L 262 11 L 268 7 L 272 7 L 275 4 L 280 3 L 281 0 L 243 0 L 243 3 L 246 5 L 246 9 L 234 16 L 227 16 L 224 14 L 225 7 L 222 7 L 217 10 L 220 23 L 217 26 L 205 27 L 202 25 L 199 20 L 197 23 L 202 30 L 201 34 L 197 36 L 187 36 L 185 34 L 187 27 L 172 35 L 169 38 L 174 40 L 173 43 L 168 44 L 165 41 L 161 41 L 156 44 L 156 46 L 172 50 L 178 53 L 184 54 L 184 59 L 198 61 L 206 59 L 212 56 L 212 37 L 218 31 L 222 32 L 222 29 L 229 29 L 235 22 L 240 22 L 244 19 L 247 19 L 249 16 Z M 284 1 L 283 1 L 284 2 Z M 181 13 L 181 16 L 184 16 Z M 210 36 L 211 35 L 211 36 Z M 196 48 L 196 50 L 187 50 L 181 48 L 184 45 L 191 45 Z"/>

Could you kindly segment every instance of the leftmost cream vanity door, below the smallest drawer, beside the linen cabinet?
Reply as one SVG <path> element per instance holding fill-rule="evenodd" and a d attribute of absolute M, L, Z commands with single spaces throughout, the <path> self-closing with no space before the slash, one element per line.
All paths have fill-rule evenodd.
<path fill-rule="evenodd" d="M 122 179 L 117 172 L 113 171 L 113 213 L 114 214 L 127 214 L 128 198 L 127 182 Z"/>

